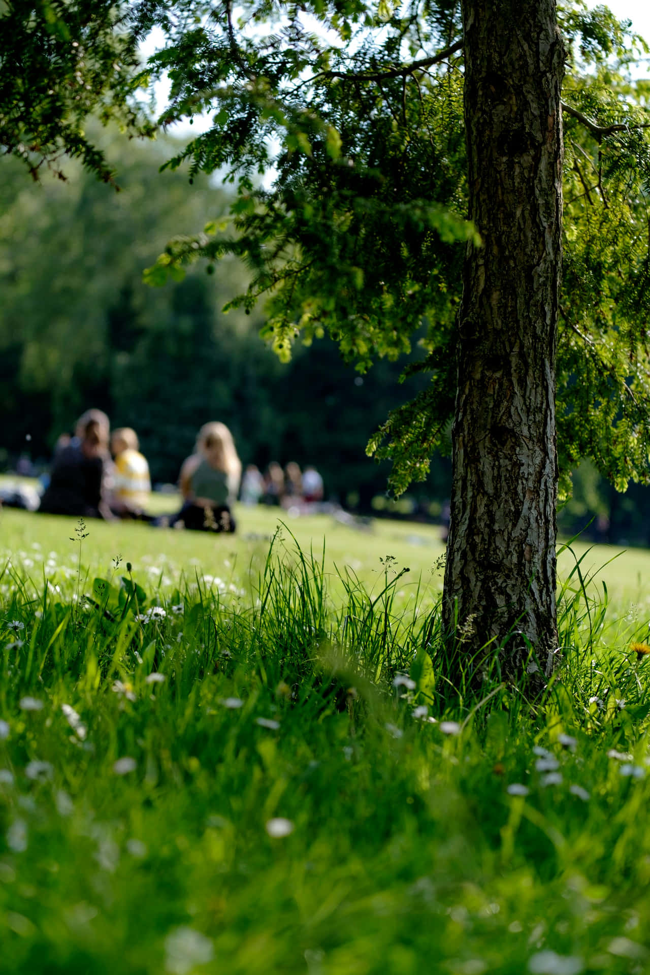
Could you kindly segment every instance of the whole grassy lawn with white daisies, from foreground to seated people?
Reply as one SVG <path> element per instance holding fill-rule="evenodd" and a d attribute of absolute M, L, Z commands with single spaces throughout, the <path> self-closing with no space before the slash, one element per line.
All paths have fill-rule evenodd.
<path fill-rule="evenodd" d="M 275 524 L 0 516 L 3 975 L 646 971 L 647 555 L 533 707 L 436 683 L 435 529 Z"/>

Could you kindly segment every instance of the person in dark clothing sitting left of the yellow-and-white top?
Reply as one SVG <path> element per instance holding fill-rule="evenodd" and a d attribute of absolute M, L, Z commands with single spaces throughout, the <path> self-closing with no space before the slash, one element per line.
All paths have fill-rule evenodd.
<path fill-rule="evenodd" d="M 108 452 L 110 425 L 101 409 L 87 409 L 75 436 L 57 449 L 39 511 L 46 515 L 112 520 L 109 497 L 113 464 Z"/>

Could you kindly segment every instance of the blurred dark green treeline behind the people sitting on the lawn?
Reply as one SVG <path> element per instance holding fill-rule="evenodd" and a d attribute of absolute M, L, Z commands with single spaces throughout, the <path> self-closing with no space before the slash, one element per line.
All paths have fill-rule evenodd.
<path fill-rule="evenodd" d="M 327 339 L 296 344 L 282 364 L 259 337 L 263 309 L 220 310 L 246 285 L 233 260 L 144 285 L 172 233 L 218 219 L 227 197 L 159 174 L 169 141 L 116 145 L 117 193 L 81 171 L 34 185 L 11 160 L 0 169 L 0 466 L 23 451 L 47 460 L 94 406 L 133 426 L 154 481 L 173 482 L 199 427 L 220 419 L 245 464 L 314 463 L 328 496 L 367 509 L 389 470 L 365 456 L 367 439 L 427 379 L 401 386 L 388 362 L 361 376 Z M 448 477 L 440 459 L 413 496 L 443 500 Z"/>

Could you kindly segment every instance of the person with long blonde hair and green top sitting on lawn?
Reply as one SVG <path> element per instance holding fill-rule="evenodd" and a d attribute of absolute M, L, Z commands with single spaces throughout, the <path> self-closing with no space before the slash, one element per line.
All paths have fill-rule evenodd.
<path fill-rule="evenodd" d="M 224 423 L 205 423 L 195 452 L 180 468 L 184 503 L 170 525 L 194 531 L 234 531 L 232 505 L 239 491 L 242 461 Z"/>

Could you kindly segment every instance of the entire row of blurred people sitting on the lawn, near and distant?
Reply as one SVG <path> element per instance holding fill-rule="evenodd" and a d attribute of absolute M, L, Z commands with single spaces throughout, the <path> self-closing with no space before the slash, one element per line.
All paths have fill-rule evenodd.
<path fill-rule="evenodd" d="M 112 455 L 112 457 L 111 457 Z M 272 462 L 264 475 L 242 462 L 232 434 L 219 422 L 204 424 L 194 453 L 180 468 L 182 506 L 171 516 L 147 513 L 151 480 L 146 458 L 139 452 L 135 431 L 122 427 L 110 433 L 108 417 L 88 409 L 76 424 L 74 436 L 62 435 L 38 510 L 105 520 L 137 519 L 156 525 L 193 530 L 234 531 L 233 504 L 264 502 L 290 508 L 323 499 L 323 479 L 314 467 L 301 473 L 295 463 Z"/>

